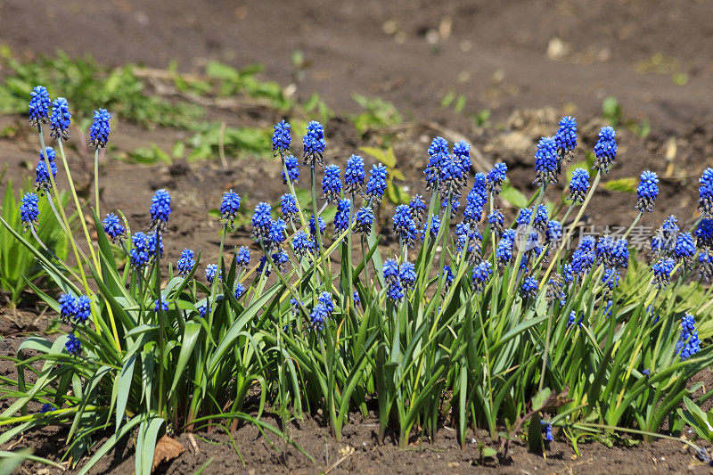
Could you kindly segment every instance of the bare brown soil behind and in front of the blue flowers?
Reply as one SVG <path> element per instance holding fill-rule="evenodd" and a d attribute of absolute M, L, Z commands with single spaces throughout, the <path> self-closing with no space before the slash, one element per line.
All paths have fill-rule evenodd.
<path fill-rule="evenodd" d="M 684 222 L 691 219 L 697 177 L 713 165 L 711 17 L 713 4 L 693 0 L 0 0 L 0 43 L 26 56 L 53 53 L 55 48 L 73 55 L 90 53 L 109 65 L 132 61 L 165 67 L 177 59 L 181 70 L 197 70 L 209 59 L 236 67 L 262 62 L 265 78 L 283 85 L 294 80 L 290 56 L 299 49 L 305 53 L 307 68 L 298 96 L 318 92 L 338 116 L 326 124 L 326 161 L 342 162 L 356 147 L 376 140 L 358 138 L 342 120 L 356 111 L 351 94 L 394 102 L 409 123 L 416 124 L 400 132 L 395 142 L 398 168 L 406 175 L 409 192 L 422 191 L 425 150 L 430 137 L 444 131 L 465 135 L 491 162 L 507 161 L 513 183 L 523 191 L 531 189 L 537 138 L 552 135 L 562 114 L 576 114 L 586 147 L 580 151 L 583 157 L 602 125 L 598 119 L 602 99 L 613 95 L 626 118 L 650 119 L 652 134 L 642 139 L 620 127 L 619 163 L 607 178 L 637 176 L 645 168 L 659 172 L 657 209 L 642 221 L 642 225 L 655 226 L 668 214 L 677 214 Z M 427 41 L 433 37 L 431 29 L 439 32 L 438 45 Z M 553 41 L 555 37 L 563 47 Z M 553 57 L 548 56 L 548 46 Z M 687 83 L 676 86 L 674 73 L 685 73 Z M 462 114 L 439 105 L 450 91 L 467 97 Z M 483 109 L 493 112 L 493 127 L 475 127 L 466 118 Z M 222 114 L 229 125 L 248 122 L 268 127 L 277 119 L 270 112 L 235 117 L 209 113 Z M 436 127 L 419 125 L 426 120 Z M 0 129 L 23 121 L 0 117 Z M 9 165 L 7 176 L 15 182 L 28 175 L 27 164 L 36 160 L 37 139 L 24 130 L 12 140 L 0 139 L 3 163 Z M 147 131 L 120 123 L 112 132 L 112 143 L 119 151 L 151 142 L 169 149 L 181 136 L 176 130 Z M 676 153 L 672 173 L 667 175 L 671 143 L 676 143 Z M 80 157 L 76 149 L 70 151 L 75 170 L 82 168 Z M 283 192 L 275 161 L 247 156 L 229 159 L 227 170 L 217 161 L 172 167 L 107 161 L 102 166 L 102 209 L 120 208 L 133 227 L 141 228 L 148 222 L 152 192 L 166 187 L 175 210 L 166 240 L 168 258 L 175 260 L 180 250 L 190 246 L 201 250 L 204 263 L 215 261 L 218 227 L 207 210 L 217 208 L 222 193 L 234 188 L 244 197 L 242 206 L 251 209 L 258 201 L 275 202 Z M 552 192 L 550 198 L 556 199 L 556 194 Z M 633 204 L 631 195 L 599 192 L 588 212 L 589 223 L 627 225 L 634 217 Z M 389 213 L 387 209 L 383 215 Z M 241 229 L 227 244 L 248 242 L 249 230 Z M 26 331 L 28 324 L 38 324 L 43 330 L 42 320 L 35 322 L 36 315 L 20 315 L 19 324 L 14 316 L 7 323 L 9 315 L 0 315 L 0 333 L 15 335 Z M 19 335 L 0 339 L 0 354 L 13 355 L 19 342 Z M 0 362 L 0 374 L 12 374 L 12 366 Z M 403 451 L 390 441 L 378 446 L 370 424 L 373 420 L 357 417 L 338 444 L 319 420 L 300 422 L 291 436 L 315 456 L 314 464 L 292 448 L 279 455 L 252 427 L 234 434 L 244 465 L 224 434 L 201 434 L 218 445 L 198 439 L 199 454 L 189 449 L 165 470 L 190 473 L 213 457 L 209 471 L 312 473 L 326 471 L 345 446 L 355 447 L 355 453 L 333 472 L 465 472 L 487 467 L 518 473 L 626 473 L 685 471 L 692 464 L 695 470 L 706 470 L 695 465 L 693 455 L 681 451 L 675 442 L 634 448 L 585 444 L 580 446 L 581 455 L 573 459 L 571 446 L 562 438 L 550 446 L 546 459 L 529 455 L 524 446 L 515 444 L 507 459 L 478 465 L 476 446 L 462 451 L 454 432 L 447 428 L 440 430 L 432 444 Z M 26 435 L 18 447 L 32 446 L 37 455 L 56 457 L 63 446 L 62 434 L 48 428 Z M 179 440 L 190 447 L 185 435 Z M 487 438 L 483 441 L 488 443 Z M 100 470 L 132 471 L 132 453 L 129 441 L 123 450 L 102 461 Z"/>

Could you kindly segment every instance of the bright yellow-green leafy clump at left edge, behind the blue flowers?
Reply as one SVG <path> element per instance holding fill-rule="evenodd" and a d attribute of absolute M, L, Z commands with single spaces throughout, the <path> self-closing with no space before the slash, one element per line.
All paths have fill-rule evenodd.
<path fill-rule="evenodd" d="M 1 178 L 0 178 L 1 180 Z M 23 233 L 23 225 L 20 219 L 20 197 L 25 192 L 32 190 L 28 182 L 20 188 L 20 196 L 15 194 L 12 181 L 7 183 L 0 216 L 16 233 Z M 48 195 L 40 198 L 40 213 L 38 217 L 37 236 L 45 243 L 49 250 L 52 250 L 62 260 L 69 254 L 68 238 L 62 231 L 61 226 L 55 219 L 49 206 L 42 206 L 47 201 Z M 55 201 L 55 208 L 66 206 L 69 201 L 67 193 L 62 192 L 60 200 Z M 34 251 L 23 246 L 18 246 L 12 233 L 4 227 L 0 228 L 0 291 L 8 294 L 10 303 L 13 306 L 20 304 L 28 283 L 35 283 L 45 287 L 46 291 L 53 293 L 56 286 L 51 279 L 47 279 L 45 268 L 35 257 L 35 252 L 40 252 L 41 248 L 34 245 Z"/>

